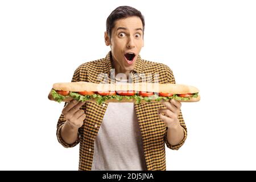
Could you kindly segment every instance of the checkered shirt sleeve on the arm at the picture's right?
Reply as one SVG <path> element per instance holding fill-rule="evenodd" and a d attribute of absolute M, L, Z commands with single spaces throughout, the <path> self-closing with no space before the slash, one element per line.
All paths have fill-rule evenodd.
<path fill-rule="evenodd" d="M 167 75 L 167 82 L 171 83 L 171 84 L 175 84 L 174 74 L 173 74 L 172 70 L 169 67 L 167 67 L 166 75 Z M 181 142 L 176 144 L 175 146 L 171 145 L 168 142 L 168 140 L 167 140 L 168 128 L 167 127 L 166 127 L 166 133 L 164 134 L 164 142 L 166 143 L 166 146 L 168 148 L 171 148 L 172 150 L 179 150 L 179 148 L 184 144 L 185 140 L 187 139 L 187 127 L 185 125 L 181 110 L 180 110 L 180 114 L 178 116 L 178 119 L 179 119 L 180 125 L 183 127 L 183 132 L 184 132 L 184 138 L 181 140 Z"/>

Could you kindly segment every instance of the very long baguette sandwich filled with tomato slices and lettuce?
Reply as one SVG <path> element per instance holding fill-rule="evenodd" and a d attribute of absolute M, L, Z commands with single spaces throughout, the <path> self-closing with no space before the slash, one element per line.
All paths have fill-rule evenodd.
<path fill-rule="evenodd" d="M 200 101 L 199 90 L 194 86 L 158 83 L 96 84 L 92 82 L 66 82 L 53 84 L 49 100 L 68 102 L 160 102 L 174 98 L 180 102 Z"/>

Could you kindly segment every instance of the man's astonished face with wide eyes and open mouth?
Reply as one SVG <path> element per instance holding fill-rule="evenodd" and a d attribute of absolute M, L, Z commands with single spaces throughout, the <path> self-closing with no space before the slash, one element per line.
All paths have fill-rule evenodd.
<path fill-rule="evenodd" d="M 136 59 L 144 46 L 143 25 L 137 16 L 115 21 L 111 40 L 105 32 L 106 46 L 110 46 L 117 72 L 129 73 L 135 67 Z"/>

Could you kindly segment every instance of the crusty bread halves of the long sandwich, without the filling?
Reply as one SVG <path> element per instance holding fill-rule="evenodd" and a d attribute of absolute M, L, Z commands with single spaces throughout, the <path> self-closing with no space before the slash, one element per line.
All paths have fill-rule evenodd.
<path fill-rule="evenodd" d="M 55 100 L 55 97 L 53 97 L 53 92 L 55 90 L 61 90 L 61 91 L 67 91 L 67 92 L 109 92 L 109 91 L 127 91 L 127 90 L 133 90 L 138 92 L 154 92 L 154 93 L 172 93 L 174 94 L 174 99 L 180 101 L 180 102 L 197 102 L 200 101 L 199 96 L 199 90 L 195 86 L 189 86 L 189 85 L 181 85 L 181 84 L 158 84 L 158 83 L 146 83 L 146 82 L 139 82 L 139 83 L 120 83 L 117 84 L 96 84 L 92 82 L 64 82 L 64 83 L 56 83 L 53 84 L 53 88 L 51 92 L 48 94 L 49 100 Z M 179 97 L 179 94 L 193 94 L 194 97 L 189 98 L 181 98 Z M 56 92 L 55 92 L 56 94 Z M 60 96 L 61 97 L 61 96 Z M 83 97 L 83 96 L 82 96 Z M 62 96 L 60 101 L 69 102 L 73 100 L 75 97 L 72 96 Z M 139 99 L 139 103 L 146 103 L 146 102 L 160 102 L 164 100 L 170 100 L 170 97 L 165 97 L 162 99 L 158 96 L 150 96 L 150 100 L 144 100 Z M 158 100 L 154 100 L 154 98 L 159 98 Z M 77 98 L 76 98 L 77 99 Z M 78 100 L 78 99 L 77 99 Z M 79 98 L 81 100 L 81 98 Z M 89 102 L 98 102 L 97 98 L 90 97 L 89 100 L 86 99 L 86 101 Z M 135 102 L 138 103 L 138 100 L 131 97 L 123 97 L 120 99 L 115 98 L 108 98 L 104 100 L 105 102 Z"/>

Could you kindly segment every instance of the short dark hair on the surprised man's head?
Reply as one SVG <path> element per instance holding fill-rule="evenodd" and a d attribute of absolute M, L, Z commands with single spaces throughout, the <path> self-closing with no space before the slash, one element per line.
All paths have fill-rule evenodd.
<path fill-rule="evenodd" d="M 108 33 L 109 38 L 111 38 L 112 29 L 115 26 L 115 21 L 118 19 L 128 18 L 130 16 L 138 16 L 139 18 L 141 18 L 144 36 L 145 21 L 144 16 L 141 14 L 141 11 L 131 6 L 119 6 L 114 9 L 112 13 L 110 13 L 108 19 L 106 20 L 106 32 Z"/>

